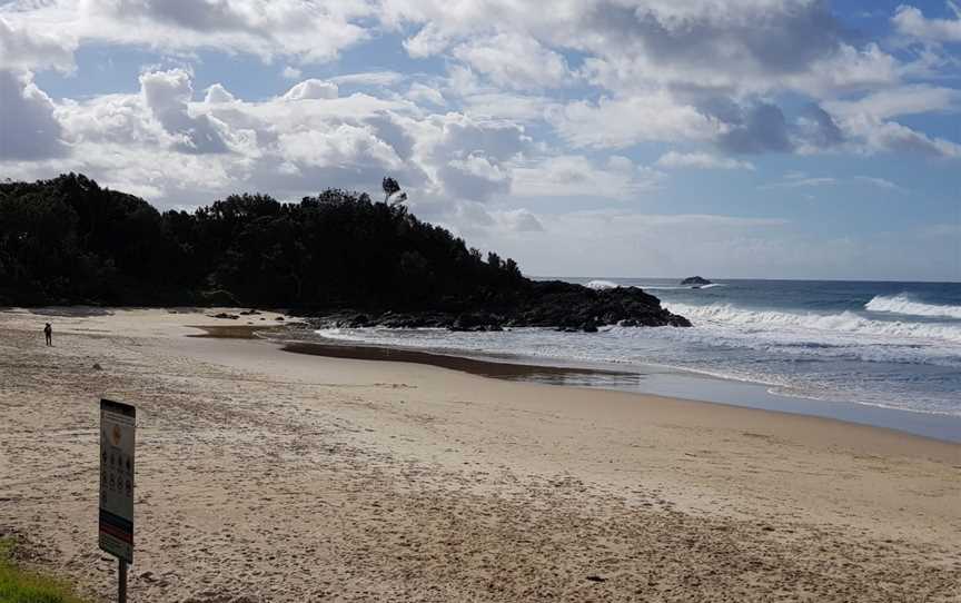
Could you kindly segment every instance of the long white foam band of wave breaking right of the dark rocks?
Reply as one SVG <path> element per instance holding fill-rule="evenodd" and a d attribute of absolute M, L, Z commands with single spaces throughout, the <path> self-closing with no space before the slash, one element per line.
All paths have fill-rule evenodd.
<path fill-rule="evenodd" d="M 853 312 L 840 314 L 787 313 L 777 310 L 746 309 L 731 304 L 665 304 L 667 309 L 699 322 L 732 325 L 742 328 L 814 329 L 828 333 L 849 333 L 879 337 L 905 337 L 943 339 L 961 343 L 961 325 L 917 323 L 911 320 L 872 320 Z"/>

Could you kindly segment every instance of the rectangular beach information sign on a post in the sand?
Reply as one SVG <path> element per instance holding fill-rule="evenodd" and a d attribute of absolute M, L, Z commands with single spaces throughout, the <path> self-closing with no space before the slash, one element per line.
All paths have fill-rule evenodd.
<path fill-rule="evenodd" d="M 117 600 L 127 602 L 133 563 L 133 449 L 137 408 L 100 401 L 100 548 L 118 560 Z"/>

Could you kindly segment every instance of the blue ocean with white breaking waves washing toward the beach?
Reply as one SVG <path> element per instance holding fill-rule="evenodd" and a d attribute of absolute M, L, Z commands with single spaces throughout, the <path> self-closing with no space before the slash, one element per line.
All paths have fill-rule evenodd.
<path fill-rule="evenodd" d="M 765 407 L 776 408 L 777 398 L 802 398 L 961 417 L 961 284 L 717 280 L 693 288 L 680 279 L 565 280 L 641 287 L 694 326 L 608 326 L 596 334 L 536 328 L 318 334 L 446 354 L 753 384 L 775 399 Z M 657 382 L 641 379 L 631 387 L 645 391 L 645 383 Z M 785 402 L 785 407 L 791 405 Z"/>

